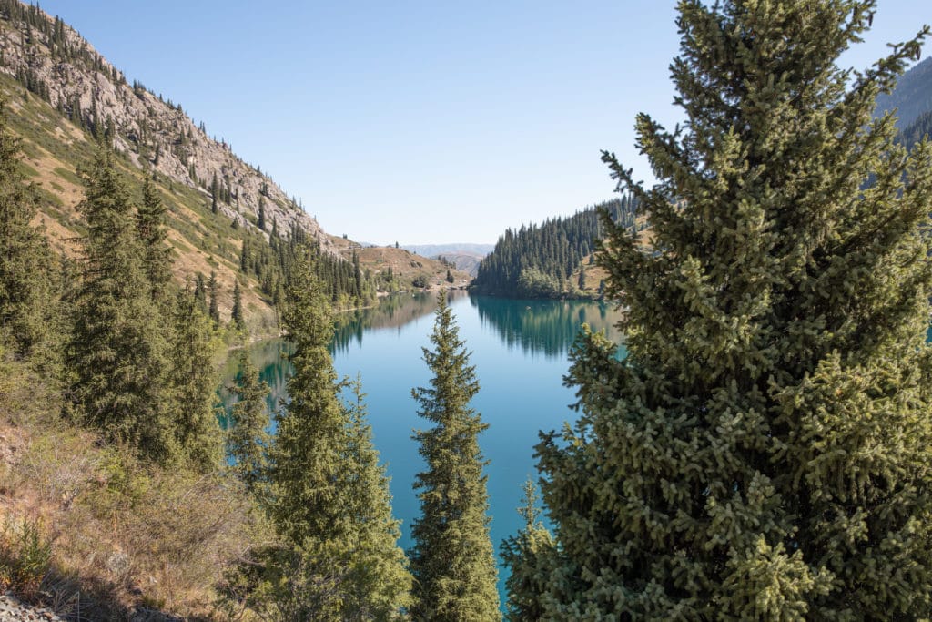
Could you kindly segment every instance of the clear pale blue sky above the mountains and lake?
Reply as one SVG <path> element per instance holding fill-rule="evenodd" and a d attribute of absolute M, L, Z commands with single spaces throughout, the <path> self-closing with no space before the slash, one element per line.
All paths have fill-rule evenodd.
<path fill-rule="evenodd" d="M 103 55 L 270 173 L 330 233 L 495 242 L 610 199 L 599 150 L 651 180 L 639 111 L 672 127 L 675 2 L 54 0 Z M 880 0 L 857 68 L 932 22 Z M 926 46 L 926 50 L 929 47 Z"/>

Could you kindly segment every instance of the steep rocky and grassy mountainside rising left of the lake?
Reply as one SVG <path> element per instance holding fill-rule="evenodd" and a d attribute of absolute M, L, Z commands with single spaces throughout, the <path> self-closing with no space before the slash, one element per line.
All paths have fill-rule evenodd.
<path fill-rule="evenodd" d="M 166 205 L 165 243 L 176 283 L 200 294 L 211 283 L 217 311 L 254 334 L 278 332 L 291 255 L 309 243 L 337 308 L 357 307 L 381 291 L 440 283 L 446 267 L 421 261 L 410 274 L 386 274 L 348 243 L 326 234 L 258 166 L 213 139 L 181 104 L 146 90 L 107 62 L 72 28 L 39 8 L 0 0 L 0 94 L 9 127 L 22 139 L 24 171 L 40 201 L 37 221 L 52 247 L 74 258 L 86 223 L 77 212 L 78 170 L 100 142 L 114 166 L 142 187 L 148 179 Z M 136 200 L 140 200 L 136 195 Z M 416 273 L 415 273 L 416 272 Z M 464 276 L 464 275 L 463 275 Z M 419 277 L 419 278 L 418 278 Z"/>

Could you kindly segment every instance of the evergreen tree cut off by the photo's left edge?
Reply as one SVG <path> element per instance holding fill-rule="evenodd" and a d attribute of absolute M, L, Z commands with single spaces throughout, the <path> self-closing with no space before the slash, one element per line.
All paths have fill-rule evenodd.
<path fill-rule="evenodd" d="M 0 339 L 28 354 L 47 332 L 48 244 L 32 226 L 38 198 L 21 168 L 21 140 L 0 102 Z"/>

